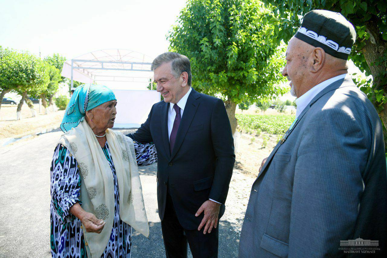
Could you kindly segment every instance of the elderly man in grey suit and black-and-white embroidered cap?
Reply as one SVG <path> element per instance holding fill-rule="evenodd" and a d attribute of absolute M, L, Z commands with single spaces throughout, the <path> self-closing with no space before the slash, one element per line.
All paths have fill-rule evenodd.
<path fill-rule="evenodd" d="M 355 38 L 341 14 L 314 10 L 289 41 L 282 74 L 298 97 L 296 119 L 252 186 L 241 258 L 336 257 L 351 255 L 351 247 L 379 255 L 386 250 L 382 124 L 347 74 Z M 378 246 L 348 241 L 357 238 Z"/>

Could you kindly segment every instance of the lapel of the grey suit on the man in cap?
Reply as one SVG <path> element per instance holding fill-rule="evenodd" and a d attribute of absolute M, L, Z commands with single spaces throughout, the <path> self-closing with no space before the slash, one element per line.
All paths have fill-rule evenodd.
<path fill-rule="evenodd" d="M 319 98 L 321 98 L 323 95 L 325 95 L 326 93 L 328 93 L 329 91 L 332 91 L 334 89 L 337 89 L 337 88 L 340 88 L 340 87 L 345 87 L 345 86 L 353 86 L 353 81 L 350 77 L 345 77 L 344 79 L 340 79 L 338 81 L 335 81 L 334 83 L 331 83 L 330 85 L 328 85 L 326 88 L 324 88 L 322 91 L 320 91 L 311 101 L 310 103 L 307 105 L 307 107 L 305 107 L 305 109 L 303 110 L 303 112 L 301 112 L 301 114 L 298 116 L 298 120 L 296 121 L 296 123 L 294 124 L 292 130 L 289 132 L 288 134 L 288 137 L 289 135 L 291 134 L 291 132 L 294 131 L 294 128 L 297 126 L 297 124 L 300 122 L 300 120 L 302 119 L 302 117 L 305 115 L 306 112 L 308 112 L 309 108 L 312 107 L 312 105 L 317 101 L 319 100 Z M 255 179 L 255 181 L 258 180 L 258 178 L 260 177 L 260 175 L 264 174 L 265 172 L 265 169 L 269 166 L 269 164 L 271 163 L 271 160 L 273 159 L 274 157 L 274 154 L 276 154 L 278 148 L 281 146 L 281 141 L 279 141 L 279 143 L 277 143 L 277 145 L 274 147 L 273 151 L 270 153 L 269 157 L 267 158 L 264 166 L 262 167 L 261 169 L 261 172 L 258 174 L 257 176 L 257 179 Z"/>

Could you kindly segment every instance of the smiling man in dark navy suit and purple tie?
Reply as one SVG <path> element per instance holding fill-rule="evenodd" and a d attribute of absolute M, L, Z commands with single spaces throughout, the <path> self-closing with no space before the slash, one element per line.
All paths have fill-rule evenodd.
<path fill-rule="evenodd" d="M 189 59 L 166 52 L 151 66 L 164 100 L 128 136 L 154 142 L 157 199 L 167 257 L 217 257 L 222 217 L 235 162 L 223 101 L 191 88 Z"/>

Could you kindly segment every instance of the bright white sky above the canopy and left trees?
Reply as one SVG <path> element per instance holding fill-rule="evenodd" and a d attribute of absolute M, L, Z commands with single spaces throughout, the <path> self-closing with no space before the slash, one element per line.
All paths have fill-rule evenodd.
<path fill-rule="evenodd" d="M 68 59 L 106 48 L 151 58 L 168 50 L 166 34 L 185 0 L 0 0 L 0 45 Z"/>

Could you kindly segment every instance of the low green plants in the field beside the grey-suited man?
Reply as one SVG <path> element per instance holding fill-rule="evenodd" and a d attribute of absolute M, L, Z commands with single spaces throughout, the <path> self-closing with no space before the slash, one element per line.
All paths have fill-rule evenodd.
<path fill-rule="evenodd" d="M 235 114 L 243 131 L 257 131 L 269 134 L 284 134 L 295 119 L 295 115 L 243 115 Z"/>

